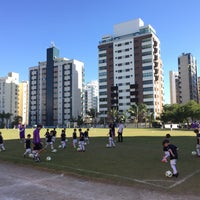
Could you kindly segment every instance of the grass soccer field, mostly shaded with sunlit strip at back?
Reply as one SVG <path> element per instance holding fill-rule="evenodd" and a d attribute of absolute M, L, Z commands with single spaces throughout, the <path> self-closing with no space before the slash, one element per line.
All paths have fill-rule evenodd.
<path fill-rule="evenodd" d="M 59 173 L 75 174 L 88 179 L 114 182 L 140 187 L 165 190 L 176 193 L 198 194 L 200 180 L 200 158 L 191 155 L 195 150 L 196 138 L 193 131 L 161 129 L 124 130 L 124 142 L 116 143 L 115 148 L 106 148 L 108 129 L 90 129 L 90 144 L 86 152 L 77 152 L 72 147 L 72 129 L 67 129 L 68 146 L 58 149 L 61 130 L 57 129 L 55 148 L 50 148 L 41 155 L 42 162 L 35 163 L 30 158 L 23 158 L 23 144 L 19 142 L 18 130 L 1 129 L 5 140 L 5 152 L 0 152 L 0 160 L 24 164 Z M 41 130 L 41 136 L 45 134 Z M 26 129 L 32 134 L 33 129 Z M 179 147 L 177 168 L 178 178 L 166 178 L 164 173 L 171 170 L 169 163 L 162 163 L 162 140 L 170 133 L 171 143 Z M 51 156 L 51 161 L 46 157 Z"/>

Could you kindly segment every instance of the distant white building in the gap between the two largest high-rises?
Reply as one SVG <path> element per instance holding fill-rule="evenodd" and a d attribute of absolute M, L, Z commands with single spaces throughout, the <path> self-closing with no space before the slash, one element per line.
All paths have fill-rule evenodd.
<path fill-rule="evenodd" d="M 92 108 L 99 111 L 99 83 L 97 80 L 90 81 L 85 86 L 85 112 Z"/>

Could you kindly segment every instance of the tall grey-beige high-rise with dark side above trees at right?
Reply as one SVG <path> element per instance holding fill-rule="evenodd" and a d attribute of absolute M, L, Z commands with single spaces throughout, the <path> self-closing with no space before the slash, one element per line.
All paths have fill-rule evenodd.
<path fill-rule="evenodd" d="M 197 61 L 191 53 L 178 57 L 179 103 L 198 102 Z"/>

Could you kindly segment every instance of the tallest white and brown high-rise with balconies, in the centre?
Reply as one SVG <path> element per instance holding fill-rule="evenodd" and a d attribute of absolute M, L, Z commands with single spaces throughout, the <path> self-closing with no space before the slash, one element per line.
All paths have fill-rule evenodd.
<path fill-rule="evenodd" d="M 163 69 L 160 41 L 150 25 L 135 19 L 114 25 L 114 34 L 98 46 L 99 112 L 108 118 L 112 108 L 120 113 L 144 103 L 154 117 L 163 108 Z"/>

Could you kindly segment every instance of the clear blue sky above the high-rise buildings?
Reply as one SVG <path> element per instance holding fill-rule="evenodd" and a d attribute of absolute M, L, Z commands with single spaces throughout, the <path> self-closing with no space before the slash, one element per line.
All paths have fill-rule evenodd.
<path fill-rule="evenodd" d="M 178 56 L 200 60 L 199 9 L 199 0 L 1 0 L 0 77 L 12 71 L 28 80 L 28 68 L 46 60 L 53 41 L 60 57 L 85 63 L 86 82 L 97 79 L 101 37 L 113 34 L 114 24 L 141 18 L 161 41 L 169 103 L 169 71 L 177 71 Z"/>

